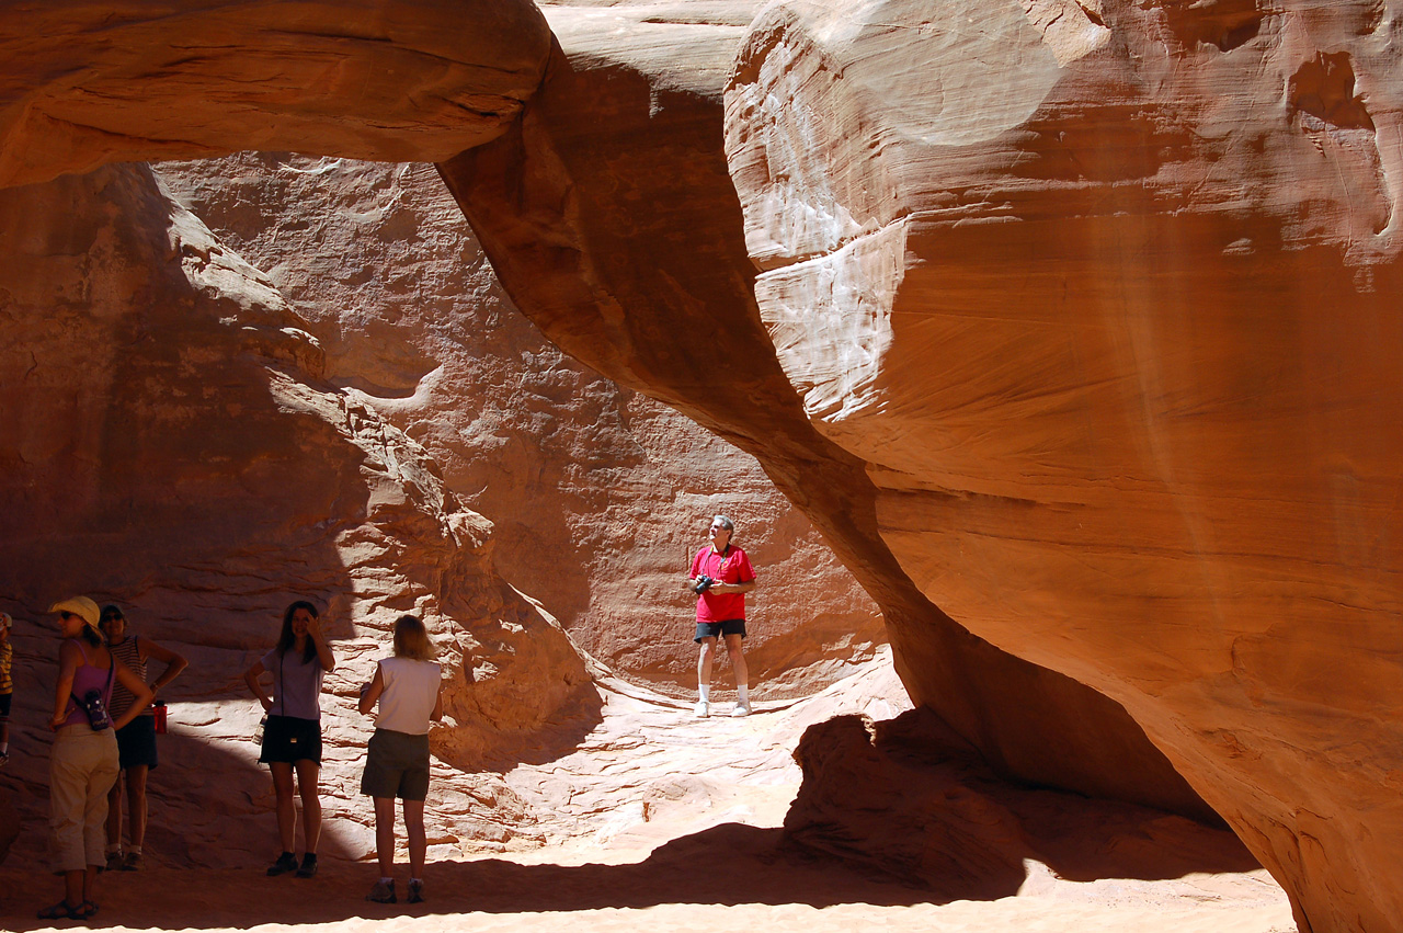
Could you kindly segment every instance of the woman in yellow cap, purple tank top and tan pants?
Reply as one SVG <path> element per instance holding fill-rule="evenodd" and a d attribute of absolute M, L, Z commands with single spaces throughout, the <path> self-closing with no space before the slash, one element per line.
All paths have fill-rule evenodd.
<path fill-rule="evenodd" d="M 150 689 L 116 661 L 102 644 L 97 603 L 73 596 L 49 606 L 59 613 L 59 679 L 53 690 L 49 728 L 58 735 L 49 753 L 49 832 L 55 871 L 63 875 L 63 899 L 39 911 L 41 920 L 86 920 L 97 913 L 93 901 L 107 842 L 107 791 L 116 780 L 114 730 L 132 721 L 152 702 Z M 112 683 L 136 697 L 121 716 L 107 720 Z M 90 716 L 84 699 L 102 697 L 102 714 Z"/>

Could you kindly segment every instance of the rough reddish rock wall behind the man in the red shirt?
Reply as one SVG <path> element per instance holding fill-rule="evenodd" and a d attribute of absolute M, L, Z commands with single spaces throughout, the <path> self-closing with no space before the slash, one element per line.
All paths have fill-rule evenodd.
<path fill-rule="evenodd" d="M 241 154 L 157 173 L 267 269 L 333 384 L 421 442 L 492 522 L 504 578 L 623 676 L 694 696 L 711 515 L 738 522 L 760 588 L 756 696 L 811 693 L 885 641 L 875 605 L 753 457 L 574 362 L 502 293 L 432 166 Z M 728 669 L 716 686 L 728 690 Z"/>

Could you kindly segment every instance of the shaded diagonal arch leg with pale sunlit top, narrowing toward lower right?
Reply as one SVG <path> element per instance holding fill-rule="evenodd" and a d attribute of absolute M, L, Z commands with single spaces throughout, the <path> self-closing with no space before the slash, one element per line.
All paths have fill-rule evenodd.
<path fill-rule="evenodd" d="M 441 166 L 504 288 L 565 352 L 753 455 L 877 600 L 919 702 L 1000 773 L 1211 818 L 1120 706 L 932 605 L 878 536 L 866 463 L 810 424 L 723 152 L 720 76 L 755 8 L 544 7 L 564 49 L 521 123 Z"/>

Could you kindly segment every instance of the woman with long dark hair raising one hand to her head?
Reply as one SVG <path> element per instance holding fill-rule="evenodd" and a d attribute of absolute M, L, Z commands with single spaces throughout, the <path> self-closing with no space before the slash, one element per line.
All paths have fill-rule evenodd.
<path fill-rule="evenodd" d="M 321 634 L 317 608 L 304 599 L 282 613 L 282 633 L 272 651 L 244 671 L 244 682 L 262 704 L 264 727 L 258 760 L 272 772 L 278 796 L 278 838 L 282 853 L 268 868 L 269 875 L 296 871 L 299 878 L 317 874 L 317 842 L 321 839 L 321 800 L 317 774 L 321 770 L 321 678 L 335 671 L 337 659 Z M 272 678 L 272 696 L 258 679 Z M 302 797 L 302 864 L 297 864 L 297 814 L 293 804 L 293 772 Z"/>

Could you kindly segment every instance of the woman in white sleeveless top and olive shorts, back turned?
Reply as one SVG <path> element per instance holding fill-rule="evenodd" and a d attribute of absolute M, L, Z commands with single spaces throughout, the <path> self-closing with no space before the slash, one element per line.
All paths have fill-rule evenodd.
<path fill-rule="evenodd" d="M 404 833 L 410 843 L 408 902 L 424 901 L 424 798 L 429 790 L 429 723 L 443 717 L 442 671 L 424 623 L 400 616 L 394 623 L 394 657 L 383 658 L 375 678 L 361 687 L 361 713 L 376 702 L 380 711 L 366 749 L 361 793 L 375 800 L 375 847 L 380 880 L 366 901 L 394 904 L 394 798 L 404 801 Z"/>

